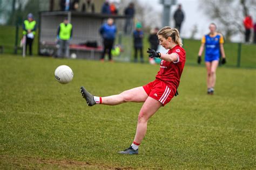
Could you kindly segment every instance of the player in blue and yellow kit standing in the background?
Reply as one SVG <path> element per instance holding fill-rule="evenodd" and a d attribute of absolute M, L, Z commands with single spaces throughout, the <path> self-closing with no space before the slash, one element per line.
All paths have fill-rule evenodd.
<path fill-rule="evenodd" d="M 201 63 L 201 55 L 205 48 L 205 66 L 207 69 L 207 94 L 213 95 L 216 82 L 216 69 L 219 64 L 220 54 L 222 56 L 221 63 L 226 63 L 224 52 L 223 36 L 216 32 L 216 25 L 211 23 L 209 26 L 210 33 L 206 34 L 201 40 L 201 46 L 198 52 L 198 63 Z"/>

